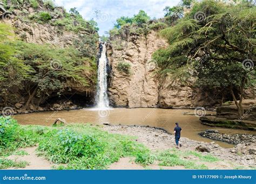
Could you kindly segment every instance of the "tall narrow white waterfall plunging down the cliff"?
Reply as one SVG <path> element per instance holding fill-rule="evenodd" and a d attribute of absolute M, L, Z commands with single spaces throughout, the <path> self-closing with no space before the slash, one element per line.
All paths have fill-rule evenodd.
<path fill-rule="evenodd" d="M 102 52 L 98 63 L 98 86 L 96 103 L 97 108 L 109 108 L 109 98 L 107 98 L 107 59 L 106 59 L 106 46 L 102 44 Z"/>

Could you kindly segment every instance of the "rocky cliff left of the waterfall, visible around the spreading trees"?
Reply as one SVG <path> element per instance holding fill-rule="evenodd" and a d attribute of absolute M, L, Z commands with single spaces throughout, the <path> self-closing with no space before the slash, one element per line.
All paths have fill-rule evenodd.
<path fill-rule="evenodd" d="M 67 13 L 62 7 L 45 4 L 40 0 L 36 2 L 38 3 L 36 5 L 31 4 L 29 1 L 21 3 L 19 1 L 16 3 L 7 1 L 7 4 L 0 4 L 6 11 L 11 12 L 11 16 L 1 19 L 1 22 L 12 25 L 16 38 L 27 43 L 49 44 L 56 48 L 71 46 L 79 51 L 83 49 L 81 52 L 86 52 L 86 54 L 89 53 L 89 56 L 86 55 L 88 58 L 97 57 L 98 33 L 93 26 L 86 22 L 86 20 L 77 21 L 77 18 L 72 13 Z M 83 40 L 85 40 L 84 45 L 82 45 Z M 83 63 L 86 66 L 89 65 L 87 61 Z M 84 72 L 84 76 L 93 78 L 95 73 Z M 94 76 L 92 77 L 91 75 Z M 49 97 L 47 98 L 49 104 L 41 108 L 35 103 L 35 105 L 30 105 L 28 111 L 35 111 L 37 109 L 40 109 L 39 111 L 52 110 L 54 108 L 52 104 L 62 104 L 66 101 L 66 97 L 69 98 L 70 107 L 73 104 L 85 105 L 93 103 L 95 81 L 92 81 L 88 87 L 82 87 L 74 81 L 67 82 L 67 85 L 65 86 L 66 91 L 62 91 L 64 96 L 56 96 L 58 91 L 49 91 Z M 0 107 L 10 106 L 16 112 L 23 112 L 23 110 L 19 109 L 21 109 L 28 98 L 27 95 L 24 95 L 27 94 L 25 89 L 14 88 L 11 89 L 11 93 L 8 99 L 0 96 Z M 33 101 L 37 102 L 39 98 L 35 97 Z M 76 105 L 73 105 L 73 107 L 76 107 Z M 70 109 L 63 105 L 63 109 L 65 108 Z"/>

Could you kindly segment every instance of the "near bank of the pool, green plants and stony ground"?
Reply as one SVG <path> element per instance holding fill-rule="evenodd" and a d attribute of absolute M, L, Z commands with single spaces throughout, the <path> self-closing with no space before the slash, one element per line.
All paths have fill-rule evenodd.
<path fill-rule="evenodd" d="M 144 168 L 158 165 L 209 169 L 217 162 L 222 163 L 218 168 L 255 168 L 254 165 L 247 164 L 248 161 L 242 160 L 242 153 L 231 153 L 231 149 L 221 148 L 214 143 L 182 138 L 181 144 L 184 147 L 176 149 L 172 135 L 150 127 L 19 125 L 11 117 L 0 117 L 0 123 L 1 169 L 28 166 L 29 160 L 9 158 L 12 155 L 22 157 L 28 154 L 22 149 L 31 146 L 37 147 L 38 157 L 47 159 L 53 169 L 107 169 L 120 158 L 131 158 L 134 164 Z M 197 147 L 206 147 L 210 153 L 196 151 L 195 149 L 200 150 Z"/>

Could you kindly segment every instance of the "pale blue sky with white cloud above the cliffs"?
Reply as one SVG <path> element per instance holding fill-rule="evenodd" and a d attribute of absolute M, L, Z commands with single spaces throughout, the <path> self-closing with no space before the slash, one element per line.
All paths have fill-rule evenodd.
<path fill-rule="evenodd" d="M 55 0 L 56 5 L 64 6 L 68 11 L 76 7 L 86 20 L 94 19 L 98 23 L 100 35 L 112 29 L 116 19 L 121 16 L 132 17 L 139 10 L 144 10 L 151 18 L 161 18 L 164 17 L 165 6 L 174 6 L 179 2 L 180 0 Z"/>

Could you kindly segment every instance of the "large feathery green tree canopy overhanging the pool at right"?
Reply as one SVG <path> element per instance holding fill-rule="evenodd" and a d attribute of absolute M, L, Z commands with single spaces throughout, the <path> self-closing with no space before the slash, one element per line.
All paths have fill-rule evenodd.
<path fill-rule="evenodd" d="M 198 12 L 204 12 L 201 21 L 194 18 Z M 253 72 L 245 70 L 242 61 L 255 63 L 254 20 L 255 6 L 249 4 L 195 3 L 176 25 L 160 32 L 170 46 L 153 54 L 159 73 L 179 74 L 171 77 L 175 80 L 193 76 L 197 87 L 208 89 L 249 86 Z"/>

